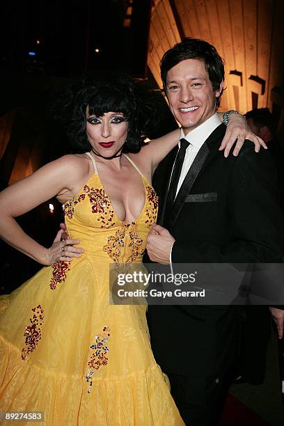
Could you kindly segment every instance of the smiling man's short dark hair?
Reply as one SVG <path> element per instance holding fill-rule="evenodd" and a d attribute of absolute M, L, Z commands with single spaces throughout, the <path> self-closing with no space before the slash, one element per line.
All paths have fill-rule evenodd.
<path fill-rule="evenodd" d="M 215 47 L 205 42 L 205 40 L 184 38 L 182 42 L 169 49 L 161 58 L 161 80 L 163 81 L 165 92 L 168 71 L 181 61 L 185 61 L 185 59 L 199 59 L 200 61 L 204 61 L 213 90 L 219 90 L 220 84 L 225 78 L 225 71 L 223 59 Z M 222 92 L 223 90 L 216 99 L 217 107 L 220 105 Z"/>

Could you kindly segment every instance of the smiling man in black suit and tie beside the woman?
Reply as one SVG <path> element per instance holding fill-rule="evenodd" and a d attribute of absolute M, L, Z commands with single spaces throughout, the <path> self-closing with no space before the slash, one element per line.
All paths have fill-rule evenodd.
<path fill-rule="evenodd" d="M 179 149 L 157 170 L 163 226 L 153 226 L 148 237 L 150 259 L 173 262 L 173 269 L 178 262 L 282 262 L 283 218 L 269 155 L 265 150 L 255 155 L 248 141 L 238 157 L 219 152 L 226 127 L 216 115 L 224 79 L 216 49 L 202 40 L 183 40 L 164 54 L 161 79 L 182 129 Z M 152 349 L 188 425 L 217 424 L 237 354 L 236 311 L 149 308 Z"/>

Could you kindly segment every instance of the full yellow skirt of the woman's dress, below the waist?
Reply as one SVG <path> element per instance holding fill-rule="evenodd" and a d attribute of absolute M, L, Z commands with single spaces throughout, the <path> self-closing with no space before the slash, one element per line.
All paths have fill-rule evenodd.
<path fill-rule="evenodd" d="M 145 306 L 111 306 L 105 287 L 82 258 L 0 298 L 0 411 L 43 411 L 51 426 L 184 425 Z"/>

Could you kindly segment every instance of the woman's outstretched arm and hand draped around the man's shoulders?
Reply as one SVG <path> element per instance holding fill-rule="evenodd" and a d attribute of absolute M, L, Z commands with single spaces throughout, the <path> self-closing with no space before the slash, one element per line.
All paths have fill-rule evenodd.
<path fill-rule="evenodd" d="M 152 161 L 152 170 L 155 171 L 158 164 L 161 162 L 164 157 L 170 152 L 175 145 L 178 144 L 180 138 L 180 129 L 175 129 L 173 132 L 170 132 L 164 136 L 161 136 L 158 139 L 153 139 L 145 145 L 141 154 L 143 155 L 144 161 L 147 159 Z M 267 148 L 264 141 L 258 136 L 255 136 L 251 129 L 246 123 L 246 118 L 239 113 L 232 113 L 229 117 L 228 126 L 226 129 L 226 134 L 223 138 L 223 141 L 220 145 L 220 150 L 224 150 L 224 156 L 228 157 L 232 145 L 237 141 L 235 148 L 232 152 L 233 155 L 237 156 L 239 150 L 244 145 L 244 140 L 248 139 L 255 144 L 255 152 L 260 150 L 260 145 L 264 148 Z"/>

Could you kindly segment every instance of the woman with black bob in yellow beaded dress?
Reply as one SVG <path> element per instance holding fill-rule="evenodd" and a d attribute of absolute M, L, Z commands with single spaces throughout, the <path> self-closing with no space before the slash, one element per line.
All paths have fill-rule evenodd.
<path fill-rule="evenodd" d="M 46 265 L 1 300 L 1 411 L 44 411 L 47 425 L 183 424 L 150 349 L 145 306 L 109 305 L 109 265 L 141 261 L 157 217 L 152 173 L 178 143 L 176 130 L 140 150 L 143 111 L 128 77 L 84 82 L 69 131 L 90 152 L 0 194 L 2 238 Z M 61 241 L 61 230 L 45 248 L 14 218 L 53 196 L 71 238 Z"/>

